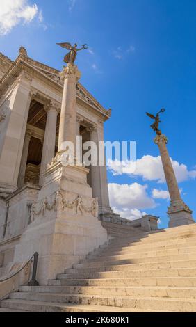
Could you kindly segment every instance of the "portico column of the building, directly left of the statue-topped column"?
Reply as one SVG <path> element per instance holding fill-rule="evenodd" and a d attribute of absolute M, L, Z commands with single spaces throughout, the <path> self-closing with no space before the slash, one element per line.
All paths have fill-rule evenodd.
<path fill-rule="evenodd" d="M 51 163 L 55 154 L 56 120 L 58 115 L 58 106 L 51 102 L 51 104 L 45 106 L 45 110 L 47 111 L 47 124 L 44 134 L 42 161 L 40 166 L 40 186 L 44 185 L 43 173 L 47 169 L 47 165 Z"/>

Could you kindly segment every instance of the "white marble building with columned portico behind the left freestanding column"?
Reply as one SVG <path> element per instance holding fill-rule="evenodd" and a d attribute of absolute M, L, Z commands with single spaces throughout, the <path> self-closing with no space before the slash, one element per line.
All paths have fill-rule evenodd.
<path fill-rule="evenodd" d="M 58 151 L 63 95 L 59 73 L 29 58 L 24 47 L 19 49 L 15 61 L 0 54 L 0 275 L 10 262 L 27 260 L 34 251 L 29 248 L 26 257 L 19 257 L 15 248 L 32 223 L 32 204 L 41 194 L 43 173 Z M 104 109 L 81 83 L 77 83 L 76 135 L 82 135 L 83 141 L 104 141 L 104 122 L 110 117 L 111 110 Z M 87 182 L 92 188 L 92 197 L 98 198 L 97 218 L 101 217 L 105 223 L 100 228 L 104 230 L 114 221 L 121 228 L 123 225 L 131 228 L 131 222 L 111 210 L 106 167 L 91 167 Z M 143 218 L 142 223 L 137 225 L 135 221 L 134 224 L 146 229 L 151 228 L 150 225 L 156 228 L 156 218 L 150 219 L 149 222 L 149 217 Z M 102 241 L 106 238 L 104 235 Z M 86 247 L 83 254 L 95 247 L 95 244 Z M 79 259 L 78 256 L 76 261 Z"/>

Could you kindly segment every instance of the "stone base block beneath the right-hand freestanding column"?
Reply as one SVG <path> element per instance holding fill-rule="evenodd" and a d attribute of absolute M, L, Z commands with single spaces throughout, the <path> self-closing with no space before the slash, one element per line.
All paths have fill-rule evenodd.
<path fill-rule="evenodd" d="M 195 223 L 192 216 L 192 210 L 189 209 L 182 200 L 171 202 L 170 207 L 168 207 L 168 216 L 170 221 L 168 227 L 177 227 L 181 225 L 190 225 Z"/>

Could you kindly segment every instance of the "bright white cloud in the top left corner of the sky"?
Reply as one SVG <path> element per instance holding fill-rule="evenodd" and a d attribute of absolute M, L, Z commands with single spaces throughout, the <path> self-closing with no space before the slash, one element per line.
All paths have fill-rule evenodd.
<path fill-rule="evenodd" d="M 6 35 L 19 23 L 29 24 L 38 15 L 38 6 L 28 0 L 1 0 L 0 35 Z M 41 17 L 40 13 L 40 17 Z"/>

